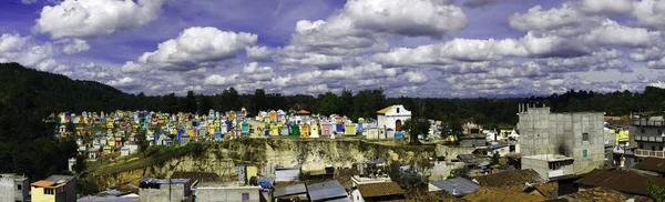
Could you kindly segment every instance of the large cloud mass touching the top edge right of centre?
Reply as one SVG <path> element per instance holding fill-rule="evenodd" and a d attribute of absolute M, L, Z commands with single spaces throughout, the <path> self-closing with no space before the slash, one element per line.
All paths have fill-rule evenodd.
<path fill-rule="evenodd" d="M 326 20 L 300 20 L 289 43 L 277 49 L 282 65 L 334 69 L 356 55 L 388 50 L 389 37 L 440 37 L 466 28 L 467 17 L 450 1 L 350 0 Z"/>

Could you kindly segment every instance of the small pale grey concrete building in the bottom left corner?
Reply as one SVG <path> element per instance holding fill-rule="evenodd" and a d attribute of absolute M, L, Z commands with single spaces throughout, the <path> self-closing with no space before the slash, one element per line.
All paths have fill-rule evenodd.
<path fill-rule="evenodd" d="M 29 201 L 30 181 L 23 175 L 0 174 L 0 201 Z"/>

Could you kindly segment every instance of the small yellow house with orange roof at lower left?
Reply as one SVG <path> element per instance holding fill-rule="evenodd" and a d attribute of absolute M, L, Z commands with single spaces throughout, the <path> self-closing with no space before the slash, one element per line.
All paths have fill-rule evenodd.
<path fill-rule="evenodd" d="M 76 179 L 71 175 L 51 175 L 30 185 L 31 201 L 76 200 Z"/>

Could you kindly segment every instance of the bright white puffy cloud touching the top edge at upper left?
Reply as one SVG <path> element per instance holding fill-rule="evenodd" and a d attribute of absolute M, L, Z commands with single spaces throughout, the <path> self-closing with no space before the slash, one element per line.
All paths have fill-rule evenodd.
<path fill-rule="evenodd" d="M 162 4 L 163 0 L 64 0 L 45 6 L 34 30 L 53 38 L 109 36 L 155 20 Z"/>

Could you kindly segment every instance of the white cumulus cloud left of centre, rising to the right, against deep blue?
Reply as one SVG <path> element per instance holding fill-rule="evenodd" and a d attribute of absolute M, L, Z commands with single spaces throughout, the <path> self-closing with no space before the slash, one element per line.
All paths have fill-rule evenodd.
<path fill-rule="evenodd" d="M 176 39 L 160 43 L 154 52 L 145 52 L 136 62 L 126 62 L 124 72 L 151 70 L 188 71 L 235 58 L 237 52 L 256 43 L 257 36 L 194 27 Z"/>

